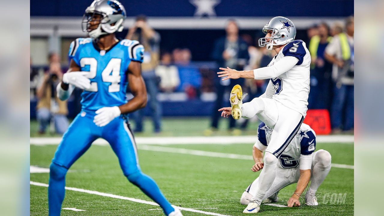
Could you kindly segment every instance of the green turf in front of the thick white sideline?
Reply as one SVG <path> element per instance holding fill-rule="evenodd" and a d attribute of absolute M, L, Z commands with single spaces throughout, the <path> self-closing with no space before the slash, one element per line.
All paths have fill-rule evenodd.
<path fill-rule="evenodd" d="M 48 167 L 56 150 L 56 145 L 31 145 L 31 165 Z M 252 144 L 238 145 L 172 145 L 174 148 L 186 148 L 222 153 L 250 155 Z M 333 163 L 353 164 L 353 145 L 340 143 L 318 143 L 317 149 L 324 148 L 332 155 Z M 252 160 L 228 158 L 210 158 L 207 156 L 181 155 L 157 151 L 139 150 L 142 171 L 155 179 L 164 195 L 172 204 L 185 208 L 202 209 L 226 215 L 243 215 L 245 206 L 239 199 L 243 190 L 258 173 L 252 173 Z M 122 175 L 118 160 L 109 146 L 92 146 L 71 168 L 66 177 L 66 186 L 112 193 L 131 198 L 150 200 L 139 189 L 130 184 Z M 354 170 L 332 168 L 324 183 L 318 189 L 322 193 L 320 205 L 313 209 L 279 208 L 262 205 L 258 215 L 353 215 Z M 31 181 L 48 183 L 48 173 L 32 173 Z M 278 204 L 286 201 L 295 190 L 296 184 L 287 186 L 279 193 Z M 47 188 L 31 185 L 31 215 L 48 215 Z M 346 193 L 345 203 L 323 204 L 332 194 Z M 63 210 L 62 215 L 100 216 L 100 215 L 162 215 L 158 208 L 147 204 L 107 198 L 92 194 L 66 191 L 63 208 L 78 208 L 87 211 L 74 212 Z M 205 214 L 182 211 L 185 216 Z"/>

